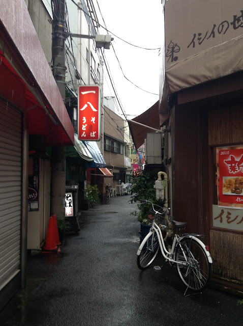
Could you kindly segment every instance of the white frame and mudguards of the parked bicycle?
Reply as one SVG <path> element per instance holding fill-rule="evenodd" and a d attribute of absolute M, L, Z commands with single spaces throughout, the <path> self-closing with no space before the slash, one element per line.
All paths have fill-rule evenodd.
<path fill-rule="evenodd" d="M 179 265 L 187 265 L 188 264 L 187 263 L 187 257 L 185 256 L 185 254 L 184 254 L 184 257 L 185 257 L 186 262 L 176 261 L 172 257 L 174 255 L 174 250 L 175 250 L 176 243 L 178 243 L 178 245 L 181 248 L 180 240 L 183 239 L 183 238 L 190 238 L 190 239 L 194 239 L 195 241 L 197 241 L 200 244 L 200 246 L 203 248 L 203 250 L 204 250 L 204 252 L 205 252 L 205 254 L 206 254 L 207 258 L 208 258 L 208 262 L 212 263 L 210 253 L 206 250 L 205 244 L 200 239 L 198 239 L 197 237 L 195 237 L 193 235 L 179 236 L 178 234 L 175 234 L 174 239 L 173 239 L 173 243 L 172 243 L 172 247 L 171 247 L 171 251 L 169 252 L 165 247 L 165 242 L 164 242 L 164 238 L 163 238 L 161 229 L 155 223 L 155 221 L 153 221 L 153 224 L 151 226 L 151 229 L 150 229 L 149 233 L 145 236 L 145 238 L 143 239 L 143 241 L 141 242 L 141 244 L 140 244 L 140 246 L 138 248 L 138 251 L 137 251 L 138 256 L 141 253 L 141 250 L 142 250 L 142 248 L 144 246 L 144 243 L 149 239 L 150 236 L 154 236 L 154 234 L 155 234 L 154 231 L 156 232 L 158 240 L 159 240 L 161 253 L 162 253 L 163 257 L 166 260 L 168 260 L 169 262 L 176 263 L 176 264 L 179 264 Z M 182 251 L 184 253 L 184 250 L 182 250 Z"/>

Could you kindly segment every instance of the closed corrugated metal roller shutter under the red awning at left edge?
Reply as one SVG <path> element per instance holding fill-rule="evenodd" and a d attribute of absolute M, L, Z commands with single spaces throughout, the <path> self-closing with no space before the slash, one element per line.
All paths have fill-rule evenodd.
<path fill-rule="evenodd" d="M 20 271 L 21 113 L 0 100 L 0 290 Z"/>

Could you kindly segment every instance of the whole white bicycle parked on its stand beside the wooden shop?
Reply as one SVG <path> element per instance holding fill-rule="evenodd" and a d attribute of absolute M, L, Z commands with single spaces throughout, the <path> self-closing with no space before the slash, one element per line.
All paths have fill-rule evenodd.
<path fill-rule="evenodd" d="M 189 233 L 179 235 L 179 230 L 184 229 L 187 223 L 174 221 L 169 215 L 169 208 L 164 210 L 149 200 L 141 202 L 151 204 L 154 216 L 150 214 L 153 224 L 137 251 L 138 267 L 147 268 L 155 260 L 160 249 L 165 262 L 176 264 L 178 275 L 187 286 L 186 292 L 188 288 L 196 292 L 202 291 L 210 280 L 212 264 L 208 246 L 198 238 L 202 235 Z M 171 247 L 168 247 L 166 242 L 172 229 L 173 242 Z M 165 238 L 162 232 L 166 233 Z"/>

